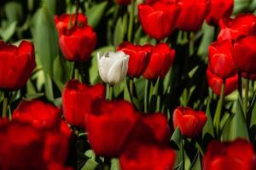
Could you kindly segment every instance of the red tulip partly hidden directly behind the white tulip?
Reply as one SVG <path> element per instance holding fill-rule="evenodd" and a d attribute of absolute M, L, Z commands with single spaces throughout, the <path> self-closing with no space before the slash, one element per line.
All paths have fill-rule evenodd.
<path fill-rule="evenodd" d="M 128 54 L 128 72 L 127 75 L 130 77 L 140 77 L 148 66 L 151 47 L 133 45 L 131 42 L 123 42 L 117 48 L 117 51 L 123 51 Z"/>

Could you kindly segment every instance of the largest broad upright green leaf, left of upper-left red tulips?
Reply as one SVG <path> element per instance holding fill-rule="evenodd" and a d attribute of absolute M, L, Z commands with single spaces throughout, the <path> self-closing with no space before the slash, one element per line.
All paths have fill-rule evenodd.
<path fill-rule="evenodd" d="M 32 19 L 32 36 L 36 53 L 45 72 L 53 77 L 53 65 L 58 56 L 58 35 L 54 16 L 47 8 L 39 8 Z"/>

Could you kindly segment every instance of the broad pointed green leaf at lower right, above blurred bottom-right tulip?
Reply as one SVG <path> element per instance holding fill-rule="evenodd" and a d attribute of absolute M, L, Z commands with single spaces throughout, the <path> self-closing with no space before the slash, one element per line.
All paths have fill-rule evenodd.
<path fill-rule="evenodd" d="M 234 140 L 236 138 L 248 139 L 247 124 L 241 107 L 241 101 L 236 100 L 236 113 L 230 116 L 222 133 L 222 140 Z"/>

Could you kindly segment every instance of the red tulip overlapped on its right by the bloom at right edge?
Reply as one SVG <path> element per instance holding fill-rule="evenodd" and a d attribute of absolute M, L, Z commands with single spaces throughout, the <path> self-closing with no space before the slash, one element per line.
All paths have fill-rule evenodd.
<path fill-rule="evenodd" d="M 209 67 L 215 75 L 222 78 L 236 74 L 236 64 L 232 56 L 232 42 L 212 42 L 209 46 Z"/>

